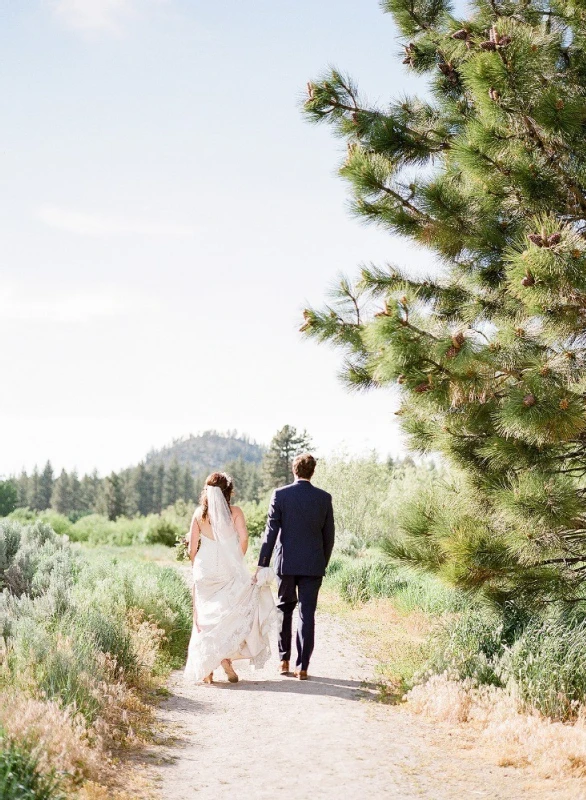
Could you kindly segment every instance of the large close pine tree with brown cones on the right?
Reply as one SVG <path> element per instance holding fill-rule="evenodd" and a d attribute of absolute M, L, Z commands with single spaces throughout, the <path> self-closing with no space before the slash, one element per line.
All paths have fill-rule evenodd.
<path fill-rule="evenodd" d="M 395 556 L 495 601 L 580 596 L 586 572 L 586 6 L 385 0 L 427 99 L 365 104 L 337 70 L 305 111 L 347 141 L 364 220 L 440 274 L 367 267 L 302 328 L 352 387 L 397 384 L 412 446 L 457 468 Z"/>

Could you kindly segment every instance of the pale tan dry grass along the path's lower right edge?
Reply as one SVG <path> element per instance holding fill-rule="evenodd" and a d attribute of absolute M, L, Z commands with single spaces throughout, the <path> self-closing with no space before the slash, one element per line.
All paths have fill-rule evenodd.
<path fill-rule="evenodd" d="M 542 777 L 586 777 L 586 709 L 573 723 L 519 710 L 503 689 L 435 675 L 407 694 L 411 711 L 481 733 L 499 766 L 532 767 Z"/>

